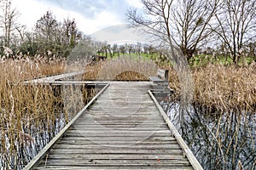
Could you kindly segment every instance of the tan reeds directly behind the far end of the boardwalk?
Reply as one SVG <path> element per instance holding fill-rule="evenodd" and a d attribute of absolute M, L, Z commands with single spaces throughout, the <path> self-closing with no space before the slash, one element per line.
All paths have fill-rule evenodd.
<path fill-rule="evenodd" d="M 122 57 L 101 61 L 85 67 L 84 80 L 148 81 L 155 76 L 157 65 L 142 59 Z"/>

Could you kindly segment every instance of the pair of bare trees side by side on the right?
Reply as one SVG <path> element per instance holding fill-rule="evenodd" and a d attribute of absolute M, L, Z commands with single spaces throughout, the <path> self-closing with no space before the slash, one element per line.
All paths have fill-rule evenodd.
<path fill-rule="evenodd" d="M 147 28 L 145 32 L 167 47 L 176 46 L 188 60 L 207 47 L 222 50 L 234 63 L 241 57 L 256 55 L 256 1 L 141 0 L 141 3 L 143 10 L 131 8 L 126 14 L 131 25 Z"/>

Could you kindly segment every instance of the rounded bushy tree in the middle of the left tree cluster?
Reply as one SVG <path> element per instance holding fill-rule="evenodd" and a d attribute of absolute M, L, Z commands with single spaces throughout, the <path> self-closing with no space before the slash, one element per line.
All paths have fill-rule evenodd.
<path fill-rule="evenodd" d="M 66 58 L 82 38 L 75 20 L 65 19 L 60 22 L 47 11 L 36 24 L 38 54 Z"/>

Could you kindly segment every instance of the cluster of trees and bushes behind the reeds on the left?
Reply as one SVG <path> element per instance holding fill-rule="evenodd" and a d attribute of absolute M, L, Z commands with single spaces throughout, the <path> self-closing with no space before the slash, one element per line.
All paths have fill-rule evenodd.
<path fill-rule="evenodd" d="M 88 38 L 79 31 L 75 19 L 56 20 L 50 11 L 38 19 L 32 31 L 27 31 L 26 26 L 20 25 L 19 13 L 12 7 L 11 0 L 0 1 L 0 4 L 2 59 L 24 56 L 67 58 L 79 41 Z"/>

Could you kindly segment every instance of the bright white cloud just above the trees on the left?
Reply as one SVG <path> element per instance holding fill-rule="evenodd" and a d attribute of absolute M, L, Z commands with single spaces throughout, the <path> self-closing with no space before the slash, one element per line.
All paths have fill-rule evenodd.
<path fill-rule="evenodd" d="M 51 11 L 57 20 L 63 20 L 69 17 L 75 19 L 80 31 L 85 34 L 90 34 L 98 31 L 107 26 L 113 26 L 123 23 L 120 17 L 113 13 L 113 11 L 100 10 L 97 11 L 94 17 L 86 17 L 84 14 L 74 10 L 67 10 L 61 8 L 60 5 L 50 3 L 49 1 L 36 1 L 36 0 L 13 0 L 12 4 L 20 13 L 20 22 L 32 29 L 37 20 L 42 17 L 47 10 Z"/>

